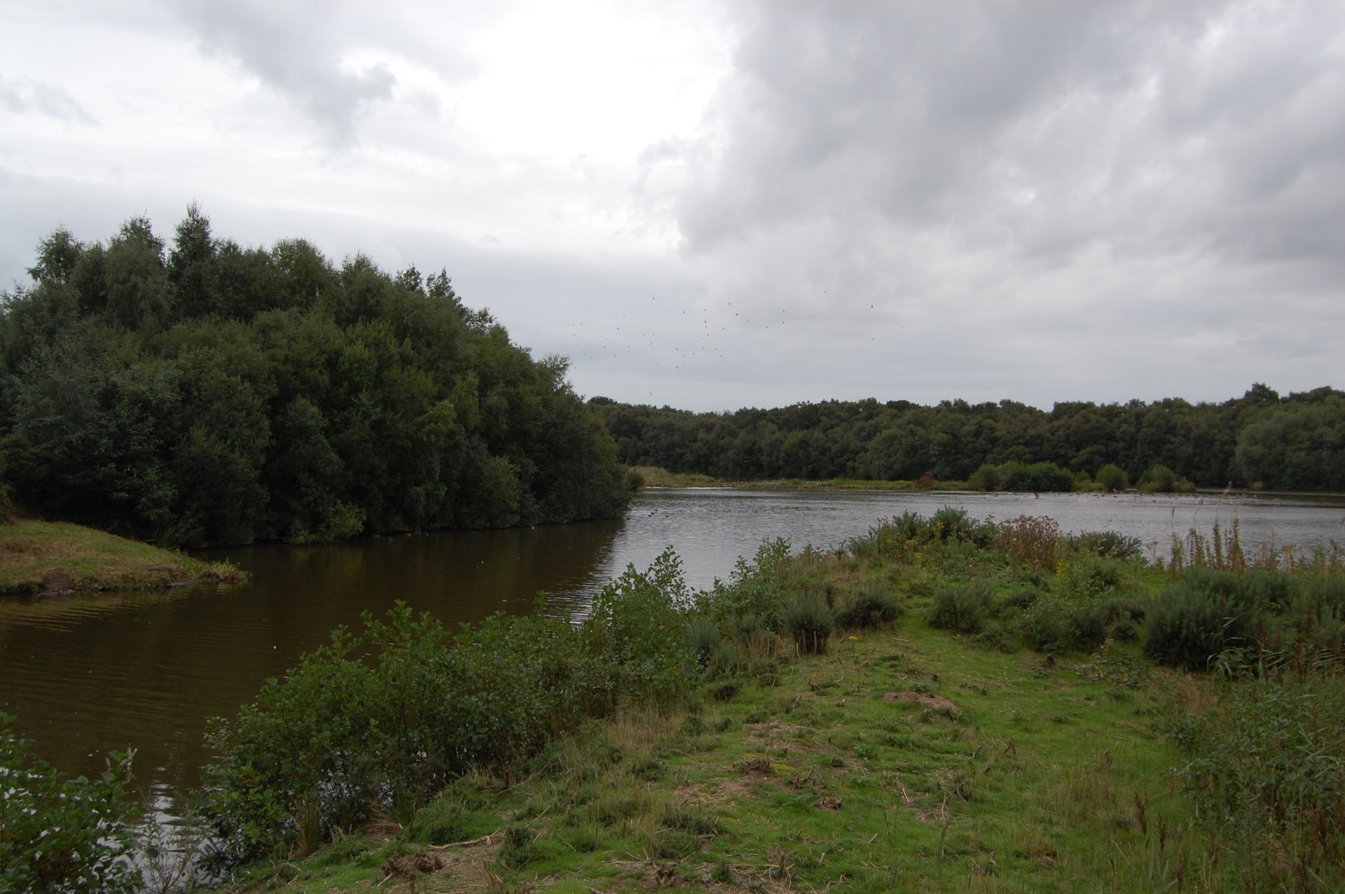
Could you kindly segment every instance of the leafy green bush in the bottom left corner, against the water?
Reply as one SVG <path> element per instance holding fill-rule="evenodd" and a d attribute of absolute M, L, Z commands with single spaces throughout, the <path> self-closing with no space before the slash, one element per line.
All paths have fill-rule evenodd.
<path fill-rule="evenodd" d="M 69 780 L 46 761 L 31 761 L 11 723 L 0 713 L 0 890 L 139 890 L 126 859 L 130 757 L 113 753 L 100 778 Z"/>

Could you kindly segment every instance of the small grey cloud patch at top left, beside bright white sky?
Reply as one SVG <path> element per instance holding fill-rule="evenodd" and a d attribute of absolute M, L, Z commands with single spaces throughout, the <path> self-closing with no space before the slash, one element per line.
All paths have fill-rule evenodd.
<path fill-rule="evenodd" d="M 360 110 L 393 95 L 397 78 L 386 62 L 355 71 L 343 65 L 363 35 L 342 22 L 339 4 L 198 0 L 180 9 L 204 51 L 235 59 L 336 144 L 355 138 Z"/>

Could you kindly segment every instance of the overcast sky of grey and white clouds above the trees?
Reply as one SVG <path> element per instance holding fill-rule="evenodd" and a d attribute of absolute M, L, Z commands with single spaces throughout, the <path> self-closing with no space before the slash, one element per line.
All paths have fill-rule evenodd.
<path fill-rule="evenodd" d="M 1345 387 L 1345 3 L 0 0 L 56 226 L 447 269 L 693 410 Z"/>

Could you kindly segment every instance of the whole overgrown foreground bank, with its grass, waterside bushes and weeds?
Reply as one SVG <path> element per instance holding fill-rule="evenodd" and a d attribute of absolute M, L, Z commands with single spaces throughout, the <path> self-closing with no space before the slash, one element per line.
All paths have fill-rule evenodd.
<path fill-rule="evenodd" d="M 574 631 L 523 621 L 506 641 L 502 620 L 440 652 L 429 620 L 371 622 L 221 739 L 221 828 L 245 843 L 249 817 L 276 829 L 233 887 L 1338 890 L 1341 558 L 1250 557 L 1235 528 L 1146 566 L 1114 534 L 944 510 L 829 554 L 764 544 L 699 594 L 660 559 Z M 651 610 L 683 641 L 629 626 Z M 377 671 L 358 659 L 374 643 Z M 502 665 L 477 644 L 519 657 Z M 502 672 L 551 688 L 498 686 Z M 608 675 L 664 688 L 590 719 L 555 711 L 590 703 L 584 687 L 612 691 Z M 534 690 L 555 706 L 500 714 L 518 710 L 507 694 Z M 428 780 L 440 721 L 426 715 L 453 692 L 463 719 L 443 729 L 460 743 L 438 760 L 459 769 L 428 797 L 399 797 L 412 789 L 395 774 Z M 410 731 L 367 745 L 391 718 Z M 479 723 L 538 735 L 502 750 Z M 266 781 L 262 754 L 293 769 Z M 303 795 L 316 782 L 297 774 L 319 766 L 324 784 Z"/>

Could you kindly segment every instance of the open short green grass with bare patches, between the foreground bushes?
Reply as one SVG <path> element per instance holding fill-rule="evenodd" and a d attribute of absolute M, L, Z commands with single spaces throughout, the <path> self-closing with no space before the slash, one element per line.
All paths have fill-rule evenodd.
<path fill-rule="evenodd" d="M 1084 659 L 1046 667 L 919 620 L 841 637 L 733 702 L 594 723 L 512 788 L 461 781 L 445 797 L 471 817 L 464 839 L 503 831 L 426 850 L 443 868 L 416 875 L 416 890 L 607 893 L 677 879 L 693 890 L 1130 891 L 1162 887 L 1182 859 L 1192 886 L 1177 754 L 1153 731 L 1178 679 L 1200 686 L 1155 674 L 1128 688 Z M 894 695 L 905 692 L 929 703 Z M 523 831 L 508 839 L 511 828 Z M 386 852 L 406 852 L 395 827 L 385 831 Z M 321 854 L 252 883 L 282 875 L 296 891 L 356 891 L 386 875 L 367 852 L 363 868 Z M 385 889 L 410 890 L 412 878 Z"/>

